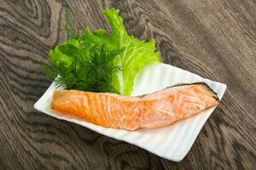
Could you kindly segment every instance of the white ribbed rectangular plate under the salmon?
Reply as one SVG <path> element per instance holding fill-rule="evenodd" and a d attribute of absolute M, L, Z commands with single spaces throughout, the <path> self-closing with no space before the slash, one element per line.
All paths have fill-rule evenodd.
<path fill-rule="evenodd" d="M 220 82 L 212 82 L 208 79 L 199 77 L 189 71 L 184 71 L 172 65 L 160 64 L 150 65 L 141 71 L 134 84 L 132 95 L 142 95 L 155 92 L 157 90 L 172 86 L 177 83 L 206 82 L 221 99 L 224 95 L 226 85 Z M 55 85 L 52 83 L 44 95 L 38 99 L 34 105 L 35 109 L 42 111 L 49 116 L 74 122 L 81 126 L 90 128 L 97 133 L 104 134 L 113 139 L 123 140 L 164 157 L 172 161 L 182 161 L 195 142 L 201 127 L 207 122 L 208 117 L 216 107 L 202 111 L 200 114 L 176 122 L 170 126 L 140 129 L 137 131 L 117 130 L 113 128 L 100 127 L 90 122 L 86 122 L 75 116 L 65 116 L 61 113 L 49 109 Z"/>

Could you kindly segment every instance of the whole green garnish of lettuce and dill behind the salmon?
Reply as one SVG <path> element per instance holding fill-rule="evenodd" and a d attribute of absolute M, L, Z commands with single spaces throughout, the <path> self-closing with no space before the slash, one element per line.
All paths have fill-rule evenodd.
<path fill-rule="evenodd" d="M 131 94 L 134 78 L 143 67 L 160 62 L 154 40 L 140 41 L 125 30 L 118 9 L 106 9 L 113 31 L 104 29 L 81 33 L 66 13 L 67 42 L 49 51 L 49 65 L 44 71 L 55 84 L 67 89 L 91 92 Z"/>

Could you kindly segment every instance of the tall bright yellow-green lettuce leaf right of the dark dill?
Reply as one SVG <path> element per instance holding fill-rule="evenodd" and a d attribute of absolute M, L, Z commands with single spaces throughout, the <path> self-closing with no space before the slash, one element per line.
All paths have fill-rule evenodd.
<path fill-rule="evenodd" d="M 146 65 L 154 62 L 160 63 L 160 53 L 155 48 L 154 39 L 144 42 L 128 34 L 123 19 L 119 16 L 119 9 L 108 8 L 104 10 L 104 14 L 112 26 L 112 32 L 109 37 L 106 31 L 102 30 L 95 31 L 94 35 L 103 41 L 108 41 L 112 47 L 124 50 L 119 54 L 119 66 L 122 70 L 122 75 L 119 77 L 121 87 L 119 90 L 121 94 L 129 95 L 137 73 Z"/>

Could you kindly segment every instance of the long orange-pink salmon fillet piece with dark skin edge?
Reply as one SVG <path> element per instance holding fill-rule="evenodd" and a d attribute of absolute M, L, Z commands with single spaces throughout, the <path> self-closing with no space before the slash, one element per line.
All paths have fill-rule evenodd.
<path fill-rule="evenodd" d="M 136 130 L 164 127 L 218 105 L 204 82 L 179 84 L 143 96 L 55 90 L 50 108 L 102 127 Z"/>

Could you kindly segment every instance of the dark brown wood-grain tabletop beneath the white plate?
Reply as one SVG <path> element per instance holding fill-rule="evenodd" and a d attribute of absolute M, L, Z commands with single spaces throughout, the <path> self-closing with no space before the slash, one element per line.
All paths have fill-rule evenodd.
<path fill-rule="evenodd" d="M 41 114 L 49 87 L 41 65 L 76 24 L 108 28 L 120 9 L 127 30 L 154 37 L 165 63 L 228 88 L 181 162 Z M 253 0 L 0 0 L 0 169 L 256 169 L 256 3 Z"/>

